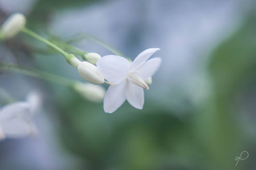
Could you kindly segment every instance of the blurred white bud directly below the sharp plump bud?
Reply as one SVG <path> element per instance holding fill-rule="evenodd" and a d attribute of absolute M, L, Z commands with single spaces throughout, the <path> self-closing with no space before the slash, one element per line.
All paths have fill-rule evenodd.
<path fill-rule="evenodd" d="M 102 86 L 89 84 L 89 83 L 75 83 L 74 90 L 82 97 L 93 102 L 101 102 L 105 96 L 105 88 Z"/>

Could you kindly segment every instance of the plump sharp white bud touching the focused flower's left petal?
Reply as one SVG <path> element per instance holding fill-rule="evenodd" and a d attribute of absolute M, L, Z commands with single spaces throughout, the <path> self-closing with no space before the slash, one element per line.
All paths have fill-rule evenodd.
<path fill-rule="evenodd" d="M 86 81 L 93 84 L 103 84 L 105 82 L 104 78 L 98 74 L 97 67 L 89 62 L 81 62 L 78 66 L 79 74 Z"/>

